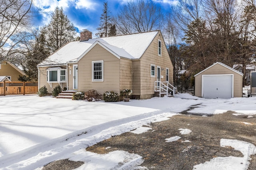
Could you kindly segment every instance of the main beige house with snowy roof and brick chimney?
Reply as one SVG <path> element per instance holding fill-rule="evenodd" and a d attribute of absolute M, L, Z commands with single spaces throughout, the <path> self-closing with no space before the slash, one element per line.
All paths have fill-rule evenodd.
<path fill-rule="evenodd" d="M 133 98 L 147 99 L 160 91 L 162 82 L 173 84 L 173 65 L 160 31 L 95 39 L 88 30 L 80 34 L 80 41 L 67 43 L 38 64 L 38 88 L 45 85 L 51 92 L 60 84 L 101 94 L 131 89 Z"/>

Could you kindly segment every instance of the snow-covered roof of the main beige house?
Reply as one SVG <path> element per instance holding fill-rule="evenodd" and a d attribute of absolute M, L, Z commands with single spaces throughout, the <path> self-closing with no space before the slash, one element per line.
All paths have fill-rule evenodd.
<path fill-rule="evenodd" d="M 96 41 L 119 57 L 140 59 L 154 37 L 156 37 L 157 33 L 158 31 L 151 31 L 114 37 L 95 38 L 89 39 L 88 41 L 69 42 L 50 55 L 46 60 L 42 61 L 42 63 L 38 64 L 38 66 L 76 62 L 77 59 L 82 57 L 86 50 L 88 50 Z"/>

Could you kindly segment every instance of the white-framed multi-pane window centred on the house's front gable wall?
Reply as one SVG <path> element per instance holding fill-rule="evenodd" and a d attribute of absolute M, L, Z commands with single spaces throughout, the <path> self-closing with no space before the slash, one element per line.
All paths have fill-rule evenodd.
<path fill-rule="evenodd" d="M 103 61 L 92 61 L 92 81 L 103 82 Z"/>

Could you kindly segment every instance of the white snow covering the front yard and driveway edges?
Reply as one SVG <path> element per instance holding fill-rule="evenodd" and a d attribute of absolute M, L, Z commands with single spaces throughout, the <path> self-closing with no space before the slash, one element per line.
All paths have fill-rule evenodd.
<path fill-rule="evenodd" d="M 255 115 L 255 99 L 203 99 L 178 94 L 175 98 L 105 103 L 35 95 L 0 96 L 0 169 L 36 169 L 64 158 L 87 162 L 78 169 L 146 169 L 140 167 L 143 162 L 140 155 L 116 151 L 102 156 L 84 148 L 147 123 L 166 120 L 192 105 L 199 104 L 189 112 L 206 116 L 228 110 L 238 115 Z M 143 133 L 148 129 L 144 127 L 133 132 Z M 189 133 L 189 129 L 180 130 Z M 255 154 L 255 150 L 244 152 L 245 162 L 250 154 Z M 101 164 L 97 164 L 99 161 Z"/>

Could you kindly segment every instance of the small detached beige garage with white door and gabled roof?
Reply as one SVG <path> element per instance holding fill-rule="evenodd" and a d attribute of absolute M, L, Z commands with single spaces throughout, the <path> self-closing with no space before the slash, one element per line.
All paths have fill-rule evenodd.
<path fill-rule="evenodd" d="M 243 74 L 217 62 L 195 75 L 195 96 L 202 98 L 242 97 Z"/>

